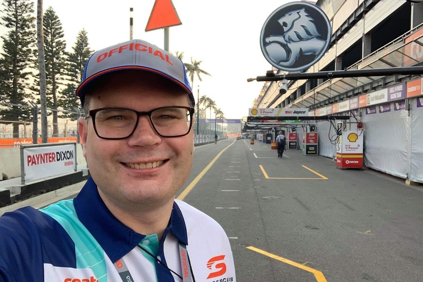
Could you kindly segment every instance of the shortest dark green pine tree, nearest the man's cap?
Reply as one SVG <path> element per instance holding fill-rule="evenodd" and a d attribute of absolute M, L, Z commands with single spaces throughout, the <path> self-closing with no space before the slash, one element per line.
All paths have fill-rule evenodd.
<path fill-rule="evenodd" d="M 81 104 L 79 98 L 75 95 L 75 90 L 78 84 L 81 82 L 84 67 L 88 58 L 93 51 L 89 48 L 87 32 L 85 29 L 79 31 L 75 46 L 72 47 L 73 52 L 68 54 L 68 76 L 70 82 L 66 85 L 66 88 L 60 92 L 59 105 L 64 109 L 81 110 Z M 78 119 L 73 113 L 63 112 L 60 117 L 70 118 L 71 120 Z"/>

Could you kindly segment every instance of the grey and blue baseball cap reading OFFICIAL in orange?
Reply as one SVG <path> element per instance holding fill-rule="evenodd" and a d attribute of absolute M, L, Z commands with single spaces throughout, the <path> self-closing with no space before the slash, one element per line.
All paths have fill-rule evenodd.
<path fill-rule="evenodd" d="M 88 85 L 96 78 L 122 70 L 142 70 L 156 73 L 181 86 L 195 104 L 184 63 L 154 44 L 134 39 L 94 52 L 85 64 L 82 81 L 76 95 L 84 103 Z"/>

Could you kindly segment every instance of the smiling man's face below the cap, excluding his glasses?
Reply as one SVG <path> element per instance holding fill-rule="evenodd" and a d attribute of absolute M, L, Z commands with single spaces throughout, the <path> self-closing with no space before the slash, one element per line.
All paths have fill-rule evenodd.
<path fill-rule="evenodd" d="M 97 87 L 89 109 L 126 107 L 150 111 L 161 106 L 189 106 L 177 85 L 143 72 L 113 74 Z M 158 207 L 173 202 L 189 176 L 193 160 L 193 131 L 182 137 L 160 137 L 148 116 L 139 117 L 134 133 L 121 140 L 99 138 L 92 119 L 79 119 L 83 154 L 106 205 L 121 209 Z M 133 168 L 141 167 L 147 168 Z M 157 167 L 156 164 L 160 164 Z M 140 204 L 140 205 L 138 205 Z"/>

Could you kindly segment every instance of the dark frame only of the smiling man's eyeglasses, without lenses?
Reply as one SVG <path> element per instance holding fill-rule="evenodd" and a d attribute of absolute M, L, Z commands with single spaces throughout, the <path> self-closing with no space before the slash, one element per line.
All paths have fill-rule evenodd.
<path fill-rule="evenodd" d="M 189 127 L 188 130 L 185 134 L 181 134 L 181 135 L 174 135 L 174 136 L 166 136 L 166 135 L 162 135 L 159 133 L 159 131 L 156 129 L 156 127 L 154 126 L 153 120 L 151 119 L 151 114 L 155 111 L 155 110 L 159 110 L 159 109 L 164 109 L 164 108 L 183 108 L 188 110 L 189 112 Z M 135 122 L 135 126 L 133 127 L 132 131 L 130 134 L 128 134 L 128 136 L 126 137 L 116 137 L 116 138 L 110 138 L 110 137 L 102 137 L 99 135 L 99 133 L 97 132 L 97 127 L 96 127 L 96 114 L 101 111 L 101 110 L 130 110 L 134 113 L 136 113 L 136 122 Z M 138 122 L 139 122 L 139 117 L 140 116 L 148 116 L 149 120 L 150 120 L 150 124 L 153 127 L 154 131 L 160 136 L 160 137 L 166 137 L 166 138 L 173 138 L 173 137 L 181 137 L 181 136 L 185 136 L 189 133 L 189 131 L 191 131 L 192 128 L 192 118 L 194 116 L 194 111 L 195 109 L 193 107 L 187 107 L 187 106 L 163 106 L 163 107 L 158 107 L 158 108 L 154 108 L 148 112 L 139 112 L 136 111 L 134 109 L 131 108 L 124 108 L 124 107 L 104 107 L 104 108 L 98 108 L 98 109 L 93 109 L 88 111 L 88 115 L 84 117 L 84 119 L 86 120 L 87 118 L 91 117 L 91 119 L 93 120 L 93 127 L 94 127 L 94 131 L 96 132 L 97 136 L 101 139 L 107 139 L 107 140 L 121 140 L 121 139 L 126 139 L 131 137 L 131 135 L 133 134 L 133 132 L 135 132 L 135 129 L 138 127 Z"/>

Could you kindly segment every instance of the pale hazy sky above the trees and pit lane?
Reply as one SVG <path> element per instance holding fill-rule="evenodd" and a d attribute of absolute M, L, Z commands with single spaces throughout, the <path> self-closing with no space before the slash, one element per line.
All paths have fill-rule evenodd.
<path fill-rule="evenodd" d="M 182 25 L 169 27 L 169 51 L 184 52 L 202 61 L 211 74 L 194 79 L 192 90 L 210 97 L 226 119 L 248 115 L 264 82 L 247 78 L 264 76 L 271 69 L 260 48 L 260 32 L 266 19 L 289 0 L 172 0 Z M 67 50 L 72 51 L 78 32 L 84 28 L 92 50 L 130 39 L 130 8 L 133 8 L 133 39 L 164 48 L 163 29 L 145 32 L 155 0 L 43 0 L 59 17 Z M 36 10 L 37 1 L 34 0 Z M 208 111 L 209 112 L 209 111 Z M 212 114 L 212 118 L 213 114 Z"/>

